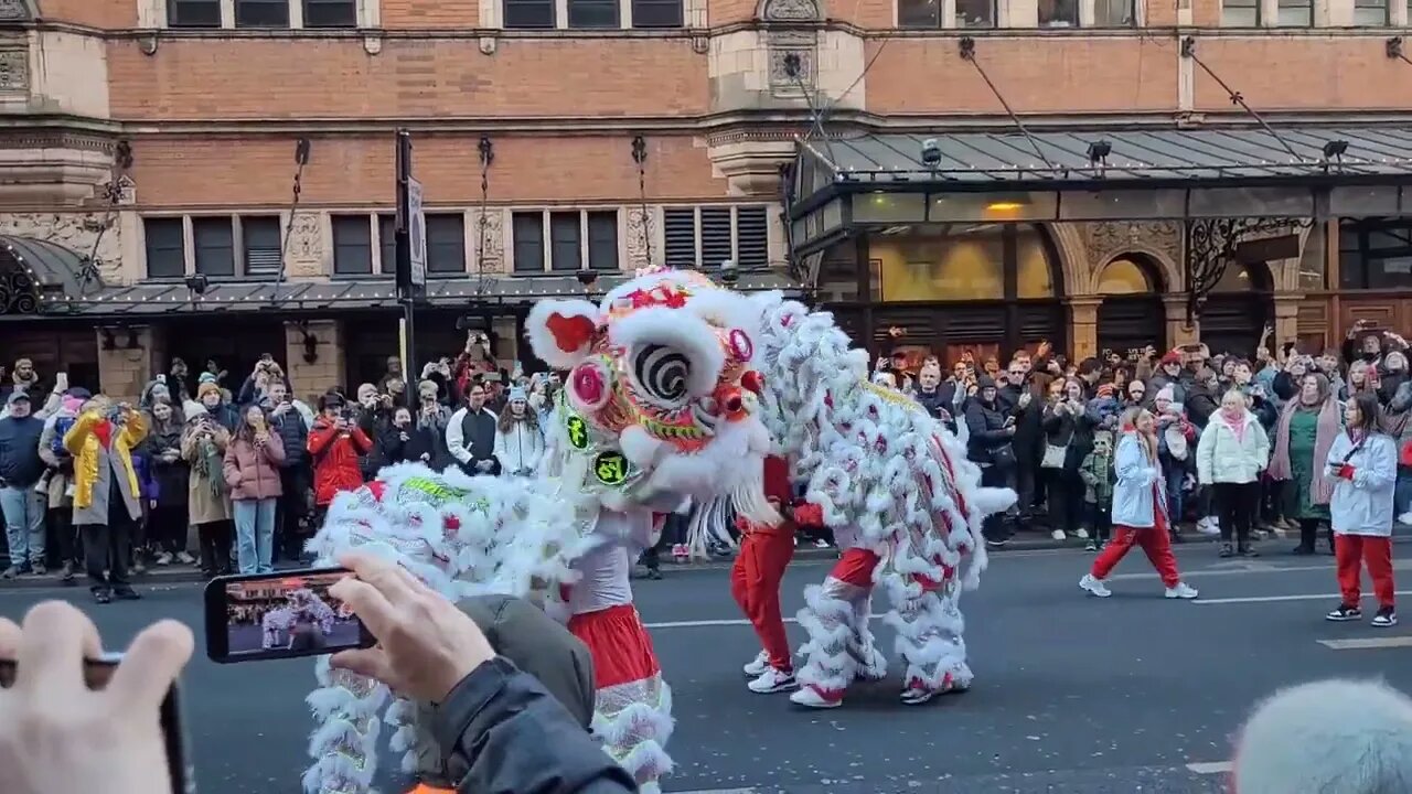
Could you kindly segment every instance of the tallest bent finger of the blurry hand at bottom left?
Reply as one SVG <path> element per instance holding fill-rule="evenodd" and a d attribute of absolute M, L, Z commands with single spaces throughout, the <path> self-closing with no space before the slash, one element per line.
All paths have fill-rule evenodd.
<path fill-rule="evenodd" d="M 64 702 L 83 685 L 83 660 L 103 654 L 97 626 L 62 600 L 47 600 L 24 616 L 16 654 L 16 688 L 45 702 Z"/>

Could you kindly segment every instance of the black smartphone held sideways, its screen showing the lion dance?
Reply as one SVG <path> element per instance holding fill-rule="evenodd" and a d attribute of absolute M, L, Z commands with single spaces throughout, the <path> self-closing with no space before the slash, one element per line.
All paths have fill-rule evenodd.
<path fill-rule="evenodd" d="M 323 656 L 377 641 L 329 595 L 346 568 L 217 576 L 206 585 L 206 656 L 217 664 Z"/>

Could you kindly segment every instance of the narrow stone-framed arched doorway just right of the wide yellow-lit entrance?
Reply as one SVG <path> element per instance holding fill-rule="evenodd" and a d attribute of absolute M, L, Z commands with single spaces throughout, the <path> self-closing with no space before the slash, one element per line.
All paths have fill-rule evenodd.
<path fill-rule="evenodd" d="M 1166 349 L 1166 312 L 1162 305 L 1162 271 L 1141 254 L 1124 254 L 1099 274 L 1099 350 L 1101 355 Z"/>

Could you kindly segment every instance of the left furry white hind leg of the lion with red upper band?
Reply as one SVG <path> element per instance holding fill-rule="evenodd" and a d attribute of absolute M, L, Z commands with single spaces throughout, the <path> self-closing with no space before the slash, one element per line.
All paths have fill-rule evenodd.
<path fill-rule="evenodd" d="M 875 554 L 850 548 L 823 586 L 805 588 L 799 626 L 809 641 L 799 648 L 805 664 L 796 674 L 801 689 L 789 697 L 792 702 L 812 708 L 843 704 L 844 689 L 877 653 L 867 629 L 858 630 L 858 615 L 868 609 L 875 565 Z"/>

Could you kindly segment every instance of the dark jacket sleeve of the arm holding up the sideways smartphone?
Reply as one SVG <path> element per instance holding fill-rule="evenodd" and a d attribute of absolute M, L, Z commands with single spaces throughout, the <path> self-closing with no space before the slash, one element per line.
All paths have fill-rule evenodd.
<path fill-rule="evenodd" d="M 504 658 L 477 667 L 436 708 L 462 794 L 631 794 L 633 777 L 569 712 Z"/>

